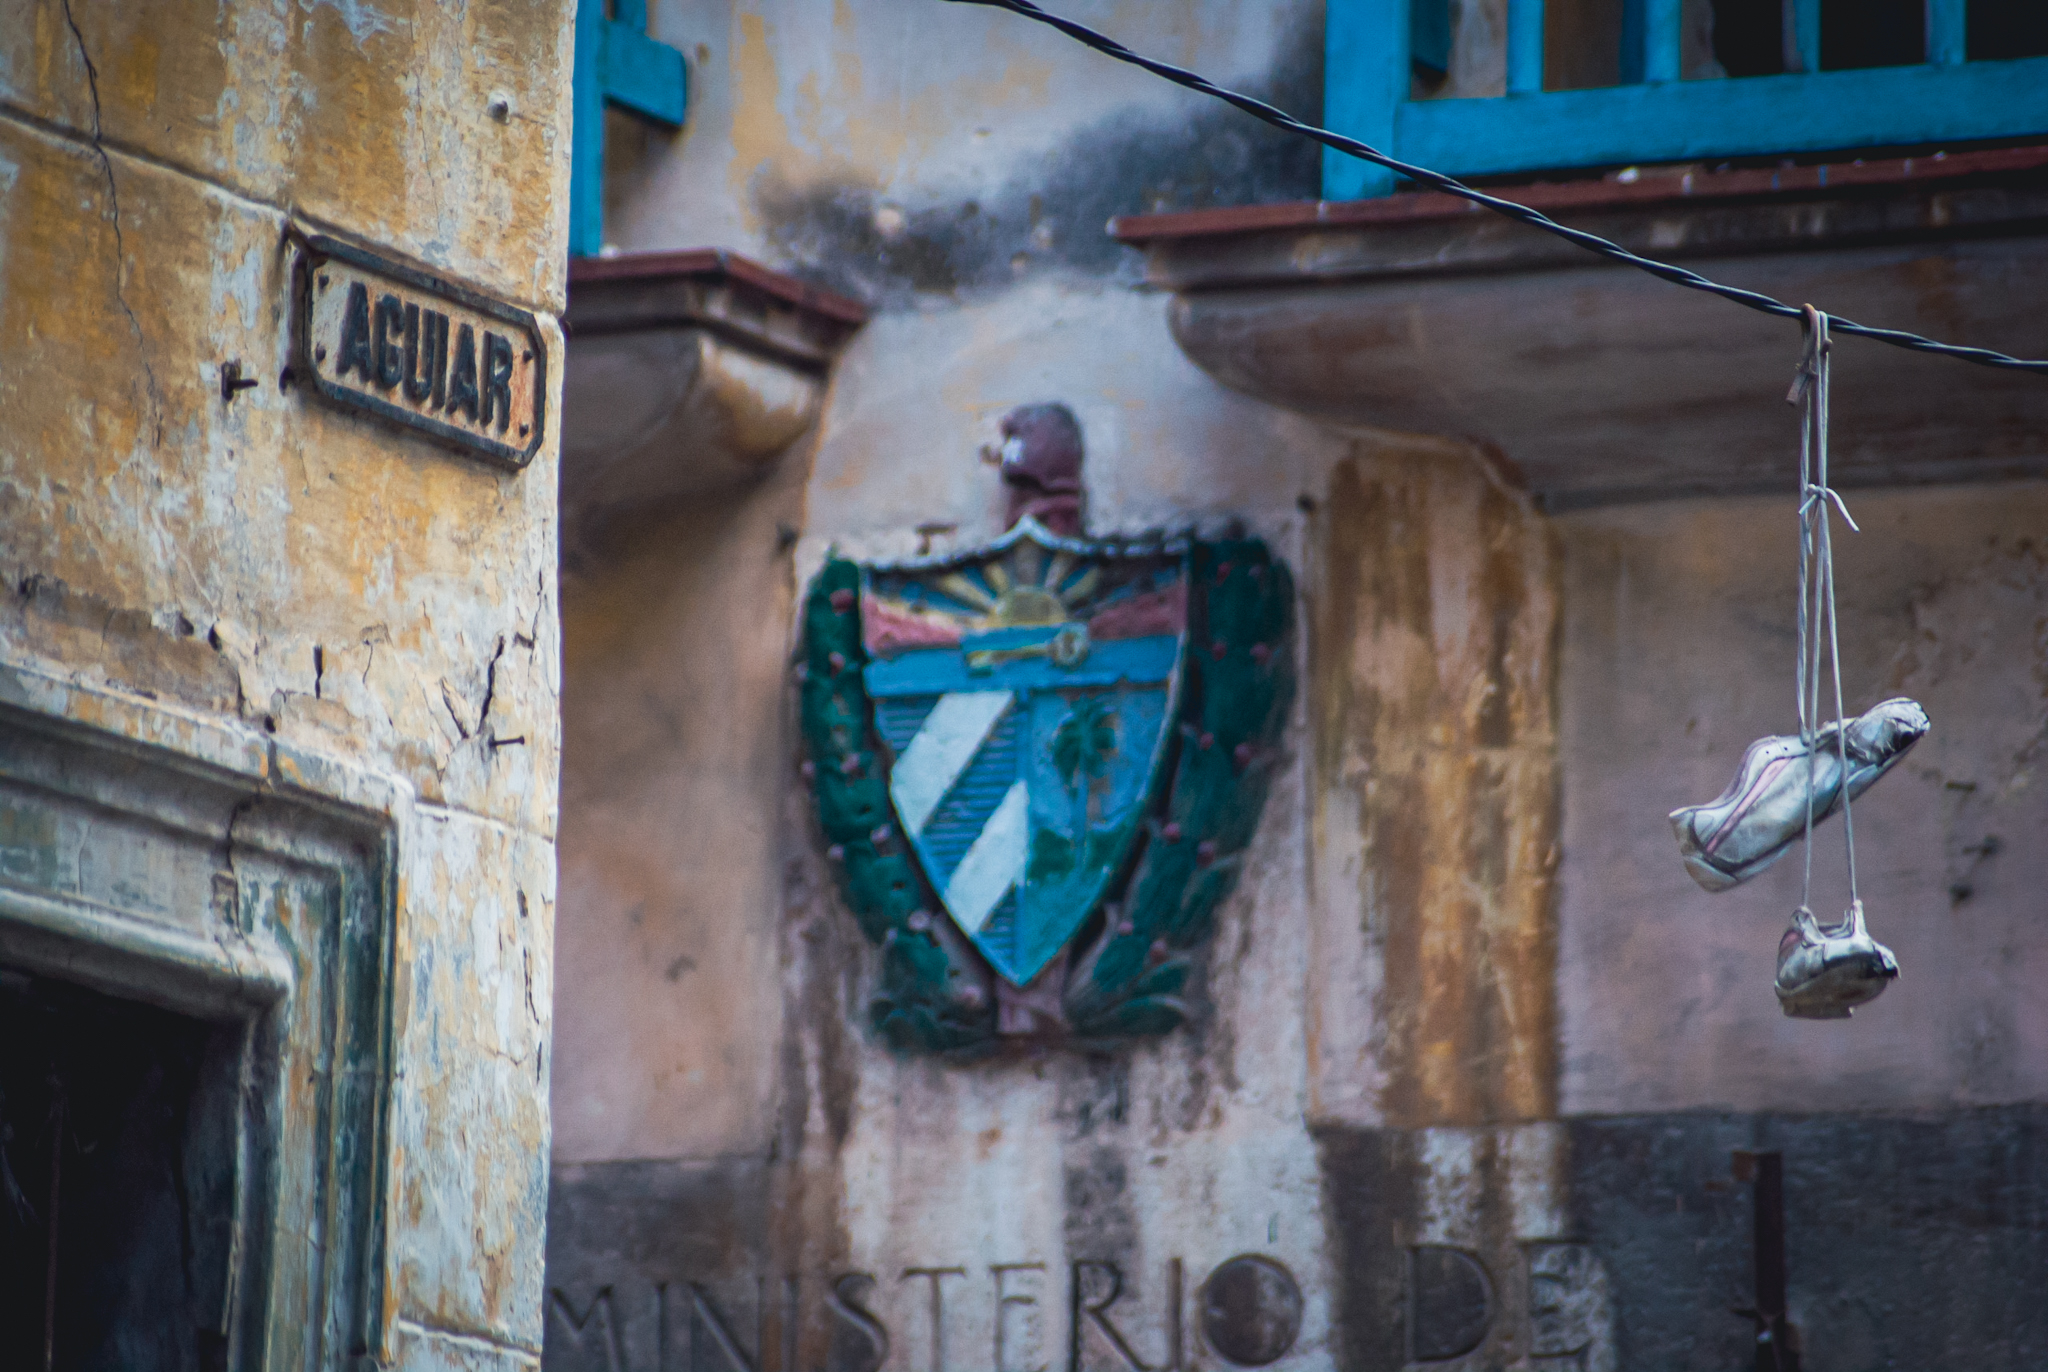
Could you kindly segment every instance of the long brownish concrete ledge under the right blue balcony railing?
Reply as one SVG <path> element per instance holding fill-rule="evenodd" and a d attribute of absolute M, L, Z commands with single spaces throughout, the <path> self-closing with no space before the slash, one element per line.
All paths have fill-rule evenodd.
<path fill-rule="evenodd" d="M 1522 186 L 1575 227 L 1864 324 L 2048 352 L 2048 149 Z M 1223 385 L 1497 448 L 1544 508 L 1790 489 L 1798 328 L 1442 195 L 1112 223 Z M 1835 352 L 1839 485 L 2048 471 L 2048 379 Z"/>

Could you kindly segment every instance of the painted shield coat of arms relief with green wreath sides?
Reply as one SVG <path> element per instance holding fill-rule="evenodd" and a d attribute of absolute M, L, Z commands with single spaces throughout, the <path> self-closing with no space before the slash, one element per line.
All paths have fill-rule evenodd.
<path fill-rule="evenodd" d="M 803 602 L 803 770 L 905 1051 L 1186 1022 L 1292 702 L 1264 543 L 1087 539 L 1065 408 L 1004 436 L 1004 537 L 827 555 Z"/>

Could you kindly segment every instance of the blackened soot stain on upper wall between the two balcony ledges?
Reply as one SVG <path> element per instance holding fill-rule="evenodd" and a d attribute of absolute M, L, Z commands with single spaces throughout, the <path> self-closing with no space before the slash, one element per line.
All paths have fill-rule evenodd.
<path fill-rule="evenodd" d="M 1280 53 L 1264 80 L 1243 88 L 1321 121 L 1323 6 L 1294 12 Z M 1083 49 L 1075 55 L 1104 61 Z M 866 184 L 764 178 L 756 207 L 778 266 L 889 309 L 918 295 L 999 289 L 1049 266 L 1135 281 L 1135 254 L 1104 231 L 1114 215 L 1321 195 L 1317 143 L 1192 92 L 1184 109 L 1182 119 L 1102 119 L 993 190 L 899 207 Z"/>

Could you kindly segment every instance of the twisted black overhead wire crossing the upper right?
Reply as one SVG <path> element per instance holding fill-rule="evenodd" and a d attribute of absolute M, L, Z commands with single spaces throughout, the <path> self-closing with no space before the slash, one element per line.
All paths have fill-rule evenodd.
<path fill-rule="evenodd" d="M 1473 205 L 1491 209 L 1497 215 L 1505 215 L 1509 219 L 1516 219 L 1518 223 L 1526 223 L 1532 229 L 1542 229 L 1544 233 L 1556 233 L 1565 242 L 1577 244 L 1587 252 L 1597 252 L 1610 262 L 1620 262 L 1622 266 L 1634 266 L 1636 270 L 1649 272 L 1651 276 L 1659 276 L 1673 285 L 1690 287 L 1694 291 L 1706 291 L 1708 295 L 1718 295 L 1722 299 L 1735 301 L 1737 305 L 1759 309 L 1767 315 L 1780 315 L 1784 319 L 1804 317 L 1798 305 L 1786 305 L 1784 301 L 1763 295 L 1761 291 L 1745 291 L 1741 287 L 1731 287 L 1720 281 L 1712 281 L 1710 276 L 1702 276 L 1700 272 L 1690 272 L 1683 266 L 1673 266 L 1671 262 L 1645 258 L 1642 254 L 1628 252 L 1620 244 L 1599 238 L 1597 233 L 1587 233 L 1585 229 L 1573 229 L 1569 225 L 1563 225 L 1550 215 L 1542 213 L 1540 209 L 1530 209 L 1528 205 L 1518 205 L 1516 201 L 1503 201 L 1497 195 L 1475 190 L 1473 186 L 1466 186 L 1462 180 L 1456 180 L 1454 176 L 1444 176 L 1442 172 L 1432 172 L 1425 166 L 1413 166 L 1409 162 L 1401 162 L 1399 158 L 1389 158 L 1380 149 L 1368 147 L 1366 143 L 1360 143 L 1354 137 L 1346 137 L 1341 133 L 1331 133 L 1329 129 L 1319 129 L 1311 123 L 1303 123 L 1300 119 L 1294 119 L 1286 111 L 1266 104 L 1266 100 L 1255 100 L 1237 90 L 1227 90 L 1210 82 L 1208 78 L 1198 76 L 1196 72 L 1188 72 L 1186 68 L 1176 68 L 1155 57 L 1145 57 L 1143 53 L 1135 53 L 1116 39 L 1096 33 L 1087 25 L 1079 25 L 1071 18 L 1063 18 L 1059 14 L 1049 14 L 1047 10 L 1040 10 L 1030 0 L 952 0 L 952 2 L 987 4 L 999 10 L 1022 14 L 1024 18 L 1034 18 L 1040 25 L 1051 25 L 1061 33 L 1065 33 L 1067 37 L 1079 39 L 1087 47 L 1094 47 L 1098 53 L 1116 57 L 1118 61 L 1128 61 L 1130 66 L 1137 68 L 1145 68 L 1153 76 L 1163 76 L 1176 86 L 1186 86 L 1188 90 L 1198 90 L 1206 96 L 1217 96 L 1219 100 L 1227 100 L 1229 104 L 1235 104 L 1247 115 L 1264 119 L 1266 123 L 1278 129 L 1288 129 L 1290 133 L 1313 137 L 1317 143 L 1323 143 L 1325 147 L 1335 147 L 1337 152 L 1350 154 L 1352 158 L 1374 162 L 1399 176 L 1407 176 L 1409 180 L 1434 186 L 1444 195 L 1454 195 L 1458 199 L 1470 201 Z M 1958 344 L 1935 342 L 1933 338 L 1921 338 L 1919 334 L 1909 334 L 1907 330 L 1880 330 L 1868 324 L 1855 324 L 1851 319 L 1843 319 L 1841 315 L 1829 315 L 1827 324 L 1829 330 L 1833 330 L 1835 334 L 1855 334 L 1860 338 L 1876 338 L 1878 342 L 1888 342 L 1894 348 L 1911 348 L 1915 352 L 1937 352 L 1942 356 L 1962 358 L 1964 362 L 1976 362 L 1980 367 L 2005 367 L 2011 371 L 2048 373 L 2048 360 L 2030 360 L 2030 358 L 2009 356 L 2005 352 L 1993 352 L 1991 348 L 1964 348 Z"/>

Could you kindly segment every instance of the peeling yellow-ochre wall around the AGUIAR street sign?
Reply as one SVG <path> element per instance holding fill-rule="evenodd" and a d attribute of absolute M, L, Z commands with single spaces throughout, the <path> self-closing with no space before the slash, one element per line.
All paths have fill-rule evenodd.
<path fill-rule="evenodd" d="M 0 653 L 383 807 L 383 1354 L 420 1368 L 539 1354 L 555 434 L 506 473 L 291 387 L 289 233 L 535 309 L 559 352 L 567 70 L 555 4 L 0 6 Z"/>

